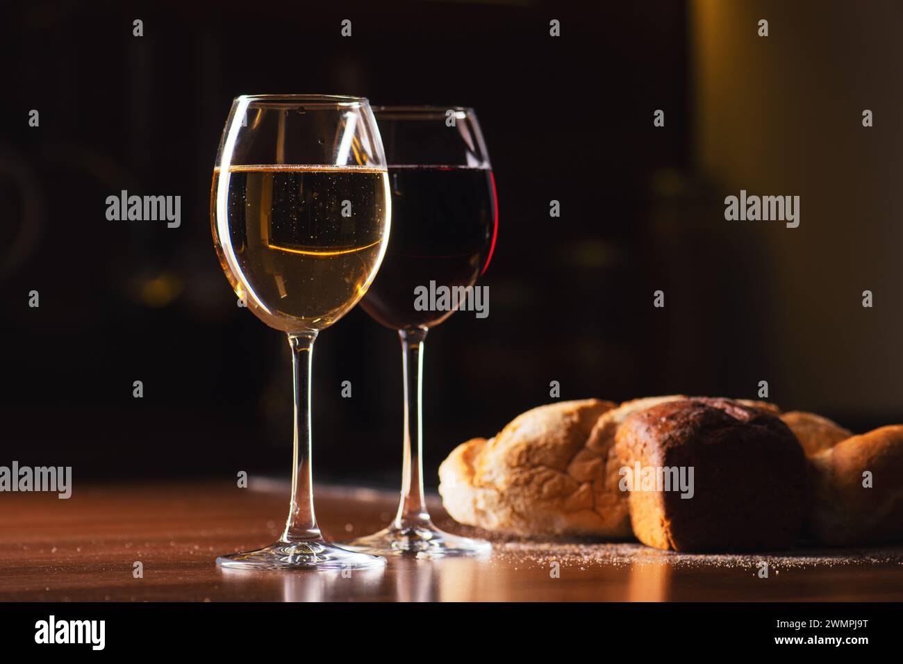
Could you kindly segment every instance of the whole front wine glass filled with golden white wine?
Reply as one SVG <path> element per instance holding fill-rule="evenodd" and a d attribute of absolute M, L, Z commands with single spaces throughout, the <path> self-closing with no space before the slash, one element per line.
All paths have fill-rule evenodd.
<path fill-rule="evenodd" d="M 292 503 L 279 541 L 224 567 L 360 569 L 386 559 L 327 542 L 313 513 L 311 360 L 317 333 L 367 292 L 386 253 L 386 157 L 365 98 L 236 98 L 219 144 L 210 219 L 236 295 L 288 335 L 294 377 Z"/>

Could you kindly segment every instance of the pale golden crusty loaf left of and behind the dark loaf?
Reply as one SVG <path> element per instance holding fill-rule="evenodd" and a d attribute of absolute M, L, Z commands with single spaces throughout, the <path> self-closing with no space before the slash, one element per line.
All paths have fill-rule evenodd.
<path fill-rule="evenodd" d="M 586 399 L 529 410 L 494 438 L 473 438 L 452 451 L 439 468 L 442 503 L 453 519 L 488 530 L 629 538 L 629 496 L 619 488 L 624 463 L 614 454 L 615 434 L 628 416 L 685 398 L 639 398 L 616 408 Z"/>

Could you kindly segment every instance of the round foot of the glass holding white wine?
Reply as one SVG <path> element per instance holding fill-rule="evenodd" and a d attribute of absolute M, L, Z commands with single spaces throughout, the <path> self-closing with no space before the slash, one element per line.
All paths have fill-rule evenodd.
<path fill-rule="evenodd" d="M 229 569 L 315 569 L 342 571 L 372 569 L 386 565 L 386 558 L 335 547 L 325 539 L 276 542 L 256 551 L 219 556 L 217 565 Z"/>

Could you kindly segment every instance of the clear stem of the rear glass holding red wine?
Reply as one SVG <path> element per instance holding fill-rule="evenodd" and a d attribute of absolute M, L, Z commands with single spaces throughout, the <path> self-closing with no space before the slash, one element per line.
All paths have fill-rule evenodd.
<path fill-rule="evenodd" d="M 405 373 L 405 456 L 402 466 L 401 501 L 394 528 L 428 526 L 430 514 L 424 499 L 424 438 L 421 426 L 424 339 L 426 328 L 399 330 Z"/>

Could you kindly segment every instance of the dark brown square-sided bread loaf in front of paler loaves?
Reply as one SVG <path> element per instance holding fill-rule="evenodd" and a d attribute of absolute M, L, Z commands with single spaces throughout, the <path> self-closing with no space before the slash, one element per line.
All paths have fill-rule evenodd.
<path fill-rule="evenodd" d="M 631 469 L 693 469 L 692 498 L 676 490 L 630 492 L 634 535 L 650 547 L 781 549 L 800 533 L 805 454 L 777 416 L 724 398 L 670 401 L 628 417 L 615 447 Z"/>

